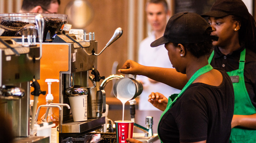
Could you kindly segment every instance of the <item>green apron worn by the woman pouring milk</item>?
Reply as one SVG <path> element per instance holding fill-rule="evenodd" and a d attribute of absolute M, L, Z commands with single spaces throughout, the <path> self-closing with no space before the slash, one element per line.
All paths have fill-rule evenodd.
<path fill-rule="evenodd" d="M 187 82 L 187 84 L 185 85 L 185 87 L 182 88 L 181 92 L 179 94 L 172 94 L 169 98 L 168 98 L 168 103 L 167 106 L 165 108 L 165 110 L 163 111 L 163 113 L 160 116 L 160 121 L 163 117 L 163 115 L 172 107 L 172 104 L 176 102 L 176 100 L 183 94 L 183 92 L 202 74 L 211 71 L 213 68 L 210 64 L 204 66 L 203 68 L 199 69 L 198 71 L 196 71 L 192 77 L 189 79 L 189 81 Z M 159 121 L 159 122 L 160 122 Z M 161 140 L 161 139 L 160 139 Z M 162 141 L 161 141 L 162 142 Z"/>

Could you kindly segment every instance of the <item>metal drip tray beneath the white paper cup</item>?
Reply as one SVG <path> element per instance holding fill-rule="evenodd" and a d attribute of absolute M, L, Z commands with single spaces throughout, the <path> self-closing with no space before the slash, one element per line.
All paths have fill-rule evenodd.
<path fill-rule="evenodd" d="M 74 122 L 73 119 L 61 125 L 62 133 L 82 133 L 105 124 L 105 117 L 92 118 L 87 121 Z"/>

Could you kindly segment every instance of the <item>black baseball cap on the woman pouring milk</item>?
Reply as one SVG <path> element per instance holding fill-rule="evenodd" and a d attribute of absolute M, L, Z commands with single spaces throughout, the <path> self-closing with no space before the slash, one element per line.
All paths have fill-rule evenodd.
<path fill-rule="evenodd" d="M 217 36 L 204 35 L 211 26 L 199 14 L 181 12 L 173 15 L 166 27 L 162 37 L 150 44 L 156 47 L 168 42 L 173 43 L 198 43 L 206 40 L 218 40 Z"/>

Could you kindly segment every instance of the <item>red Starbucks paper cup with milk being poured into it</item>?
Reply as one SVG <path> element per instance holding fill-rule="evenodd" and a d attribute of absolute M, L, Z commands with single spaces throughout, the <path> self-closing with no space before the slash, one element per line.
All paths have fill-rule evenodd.
<path fill-rule="evenodd" d="M 133 121 L 115 121 L 116 123 L 116 137 L 117 143 L 127 143 L 127 138 L 133 137 Z"/>

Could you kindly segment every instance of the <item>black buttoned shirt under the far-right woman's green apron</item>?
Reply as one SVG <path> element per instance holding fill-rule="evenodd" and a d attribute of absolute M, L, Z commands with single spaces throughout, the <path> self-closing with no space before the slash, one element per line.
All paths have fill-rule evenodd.
<path fill-rule="evenodd" d="M 242 44 L 241 48 L 224 55 L 218 47 L 214 47 L 214 57 L 211 66 L 221 68 L 225 71 L 234 71 L 239 69 L 240 53 L 245 49 Z M 256 54 L 249 49 L 245 49 L 245 69 L 244 69 L 245 87 L 249 94 L 253 106 L 256 108 Z"/>

